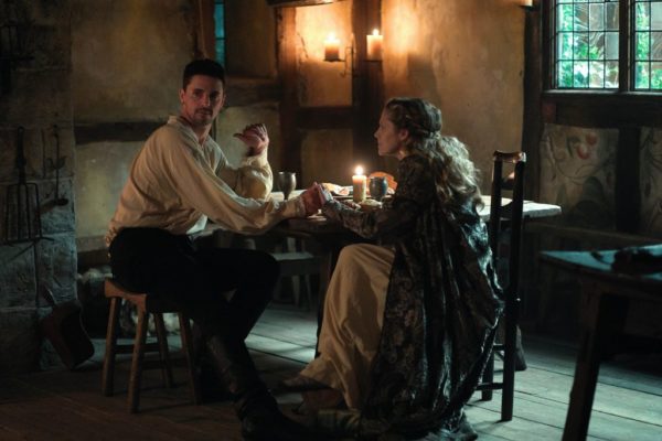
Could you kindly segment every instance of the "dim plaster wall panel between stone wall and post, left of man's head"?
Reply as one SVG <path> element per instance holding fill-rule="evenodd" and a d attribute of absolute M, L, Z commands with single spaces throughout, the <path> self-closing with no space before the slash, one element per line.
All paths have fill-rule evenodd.
<path fill-rule="evenodd" d="M 163 120 L 193 55 L 188 0 L 74 0 L 76 123 Z"/>

